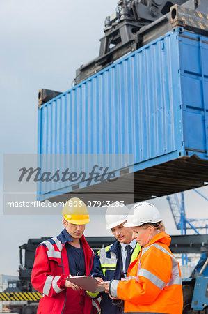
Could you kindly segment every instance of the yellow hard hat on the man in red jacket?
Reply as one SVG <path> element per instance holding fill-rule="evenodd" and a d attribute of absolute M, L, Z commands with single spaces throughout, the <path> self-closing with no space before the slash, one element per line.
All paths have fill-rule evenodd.
<path fill-rule="evenodd" d="M 78 197 L 72 197 L 65 203 L 62 209 L 63 218 L 74 225 L 86 225 L 90 222 L 86 204 Z"/>

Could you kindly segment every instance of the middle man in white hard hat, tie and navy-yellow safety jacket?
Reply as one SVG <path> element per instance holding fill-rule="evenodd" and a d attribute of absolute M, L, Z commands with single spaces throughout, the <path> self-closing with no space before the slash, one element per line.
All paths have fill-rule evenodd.
<path fill-rule="evenodd" d="M 130 262 L 133 262 L 141 251 L 141 246 L 133 239 L 131 228 L 124 227 L 129 209 L 124 204 L 114 205 L 116 204 L 117 206 L 111 205 L 106 210 L 106 229 L 111 229 L 117 241 L 99 250 L 93 262 L 91 275 L 100 281 L 125 279 Z M 102 314 L 123 313 L 122 300 L 112 300 L 106 293 L 88 292 L 88 294 L 94 298 L 102 295 L 100 302 Z"/>

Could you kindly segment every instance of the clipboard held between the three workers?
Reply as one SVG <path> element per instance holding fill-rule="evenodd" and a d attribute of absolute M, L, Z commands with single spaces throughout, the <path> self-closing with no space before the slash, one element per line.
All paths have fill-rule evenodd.
<path fill-rule="evenodd" d="M 105 291 L 104 287 L 97 287 L 97 283 L 100 283 L 97 279 L 92 276 L 74 276 L 66 278 L 67 281 L 78 285 L 81 289 L 89 292 L 102 292 Z"/>

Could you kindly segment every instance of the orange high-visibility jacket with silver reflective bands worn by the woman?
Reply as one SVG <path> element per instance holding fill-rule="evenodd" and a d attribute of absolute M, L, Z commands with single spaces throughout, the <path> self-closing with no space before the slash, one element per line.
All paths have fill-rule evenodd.
<path fill-rule="evenodd" d="M 125 313 L 182 313 L 182 278 L 170 241 L 159 232 L 130 264 L 127 280 L 111 281 L 109 292 L 125 300 Z"/>

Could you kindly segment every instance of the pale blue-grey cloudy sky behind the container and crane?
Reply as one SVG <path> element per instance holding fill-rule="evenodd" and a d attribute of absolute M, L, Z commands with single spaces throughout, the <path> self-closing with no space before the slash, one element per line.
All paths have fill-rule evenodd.
<path fill-rule="evenodd" d="M 117 0 L 0 0 L 1 191 L 3 154 L 36 153 L 38 89 L 70 89 L 75 71 L 97 57 L 104 19 Z M 208 197 L 208 188 L 200 188 Z M 208 203 L 186 192 L 188 218 L 207 218 Z M 152 201 L 169 234 L 177 234 L 166 197 Z M 196 214 L 197 213 L 197 214 Z M 90 225 L 91 224 L 91 225 Z M 91 216 L 86 235 L 110 235 L 104 216 Z M 19 245 L 62 230 L 60 216 L 3 215 L 1 192 L 0 274 L 15 275 Z"/>

